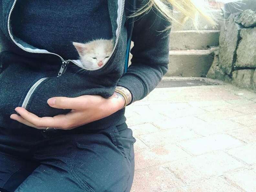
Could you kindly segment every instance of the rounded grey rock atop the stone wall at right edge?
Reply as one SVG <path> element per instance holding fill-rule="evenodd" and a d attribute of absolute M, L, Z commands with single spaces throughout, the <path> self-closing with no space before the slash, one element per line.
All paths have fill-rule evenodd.
<path fill-rule="evenodd" d="M 244 27 L 256 26 L 256 12 L 251 9 L 247 9 L 241 12 L 234 18 L 235 22 L 243 25 Z"/>

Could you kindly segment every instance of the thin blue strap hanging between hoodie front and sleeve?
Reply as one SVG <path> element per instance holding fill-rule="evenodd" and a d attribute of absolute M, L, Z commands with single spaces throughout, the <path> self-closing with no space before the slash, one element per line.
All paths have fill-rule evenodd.
<path fill-rule="evenodd" d="M 133 4 L 130 6 L 130 10 L 134 10 L 135 7 L 136 7 L 136 0 L 133 0 Z M 128 22 L 128 28 L 127 28 L 127 48 L 126 48 L 126 54 L 125 54 L 124 73 L 126 73 L 127 69 L 128 69 L 134 21 L 135 21 L 135 17 L 129 18 L 127 20 L 127 22 Z"/>

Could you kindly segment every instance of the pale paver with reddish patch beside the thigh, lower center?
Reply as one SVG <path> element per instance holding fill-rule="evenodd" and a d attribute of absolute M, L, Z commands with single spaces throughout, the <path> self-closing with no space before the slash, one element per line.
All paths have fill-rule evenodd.
<path fill-rule="evenodd" d="M 191 157 L 175 144 L 157 146 L 135 153 L 135 170 Z"/>

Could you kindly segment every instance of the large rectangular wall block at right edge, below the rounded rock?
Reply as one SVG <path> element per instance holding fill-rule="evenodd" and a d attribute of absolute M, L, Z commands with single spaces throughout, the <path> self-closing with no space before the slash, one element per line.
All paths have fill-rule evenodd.
<path fill-rule="evenodd" d="M 256 68 L 256 27 L 241 29 L 236 67 Z"/>

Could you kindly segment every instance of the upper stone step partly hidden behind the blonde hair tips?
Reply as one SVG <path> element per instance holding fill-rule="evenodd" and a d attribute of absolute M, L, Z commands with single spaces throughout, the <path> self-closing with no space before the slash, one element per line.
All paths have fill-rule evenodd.
<path fill-rule="evenodd" d="M 221 21 L 223 21 L 222 17 L 223 17 L 223 13 L 222 10 L 214 10 L 213 11 L 213 15 L 218 18 L 219 23 Z M 182 14 L 180 12 L 174 11 L 174 18 L 178 21 L 180 21 L 180 19 L 182 18 Z M 218 30 L 220 27 L 220 25 L 217 28 L 214 28 L 211 26 L 211 24 L 209 23 L 209 21 L 207 19 L 205 19 L 203 16 L 199 16 L 198 18 L 198 23 L 199 23 L 199 28 L 198 30 Z M 183 25 L 180 26 L 180 24 L 173 22 L 172 25 L 172 30 L 173 31 L 180 31 L 180 30 L 194 30 L 194 24 L 192 22 L 191 19 L 188 19 L 188 21 Z"/>

